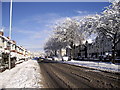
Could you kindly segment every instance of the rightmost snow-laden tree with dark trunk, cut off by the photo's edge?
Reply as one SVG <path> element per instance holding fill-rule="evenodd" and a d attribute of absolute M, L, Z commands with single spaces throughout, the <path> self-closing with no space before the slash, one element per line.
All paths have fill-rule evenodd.
<path fill-rule="evenodd" d="M 115 48 L 120 42 L 120 1 L 115 0 L 112 5 L 103 11 L 97 31 L 100 34 L 106 35 L 112 41 L 112 56 L 113 62 L 115 59 Z"/>

